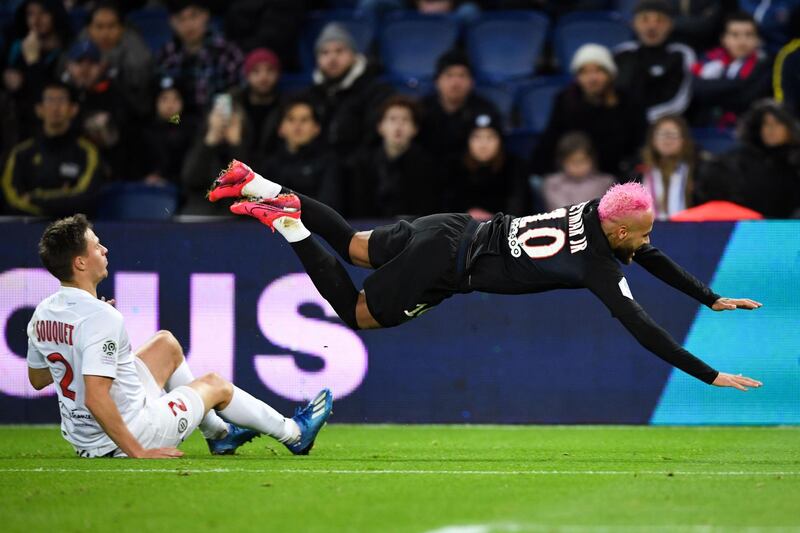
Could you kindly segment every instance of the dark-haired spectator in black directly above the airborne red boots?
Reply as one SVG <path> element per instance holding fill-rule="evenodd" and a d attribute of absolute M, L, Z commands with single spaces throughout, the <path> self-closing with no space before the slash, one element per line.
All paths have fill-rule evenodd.
<path fill-rule="evenodd" d="M 296 98 L 284 107 L 278 135 L 282 146 L 264 162 L 265 176 L 284 187 L 313 196 L 341 210 L 341 167 L 321 136 L 319 116 L 309 100 Z"/>

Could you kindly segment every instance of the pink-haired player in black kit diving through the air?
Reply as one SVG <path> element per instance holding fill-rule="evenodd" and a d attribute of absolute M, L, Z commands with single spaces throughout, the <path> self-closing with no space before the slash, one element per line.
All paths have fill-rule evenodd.
<path fill-rule="evenodd" d="M 654 276 L 715 311 L 757 309 L 750 299 L 723 298 L 650 244 L 653 208 L 637 183 L 616 185 L 597 200 L 549 213 L 438 214 L 356 232 L 333 209 L 283 189 L 232 161 L 209 199 L 238 198 L 231 211 L 277 230 L 291 244 L 320 294 L 353 329 L 392 327 L 454 294 L 592 291 L 645 348 L 697 379 L 720 387 L 761 382 L 719 372 L 683 349 L 634 300 L 620 263 L 636 261 Z M 302 220 L 301 220 L 302 213 Z M 375 269 L 356 290 L 342 264 Z"/>

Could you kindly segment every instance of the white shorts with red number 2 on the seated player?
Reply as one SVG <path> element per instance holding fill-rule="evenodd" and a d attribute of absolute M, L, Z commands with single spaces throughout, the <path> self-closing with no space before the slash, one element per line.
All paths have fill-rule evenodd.
<path fill-rule="evenodd" d="M 146 399 L 142 413 L 129 429 L 144 448 L 175 447 L 203 420 L 203 399 L 185 385 L 163 394 L 144 361 L 138 357 L 134 360 Z"/>

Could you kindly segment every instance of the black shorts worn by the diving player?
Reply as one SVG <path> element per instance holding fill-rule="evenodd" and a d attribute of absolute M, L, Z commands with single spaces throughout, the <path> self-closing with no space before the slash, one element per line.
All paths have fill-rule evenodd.
<path fill-rule="evenodd" d="M 464 263 L 478 223 L 466 214 L 430 215 L 376 228 L 375 272 L 364 280 L 370 313 L 383 327 L 416 318 L 464 287 Z"/>

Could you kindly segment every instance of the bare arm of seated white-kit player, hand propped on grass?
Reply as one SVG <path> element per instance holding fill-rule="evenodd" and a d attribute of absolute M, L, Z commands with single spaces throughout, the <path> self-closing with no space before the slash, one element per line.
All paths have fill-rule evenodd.
<path fill-rule="evenodd" d="M 86 408 L 125 455 L 136 459 L 172 459 L 183 455 L 177 448 L 145 450 L 128 429 L 111 398 L 109 391 L 114 380 L 105 376 L 87 375 L 83 379 L 86 385 Z"/>

